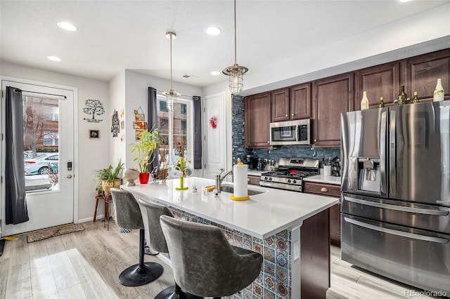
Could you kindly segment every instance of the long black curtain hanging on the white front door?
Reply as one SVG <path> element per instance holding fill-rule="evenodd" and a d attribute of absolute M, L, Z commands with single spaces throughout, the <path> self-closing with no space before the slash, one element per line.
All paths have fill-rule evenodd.
<path fill-rule="evenodd" d="M 6 86 L 6 224 L 28 221 L 23 167 L 22 91 Z"/>

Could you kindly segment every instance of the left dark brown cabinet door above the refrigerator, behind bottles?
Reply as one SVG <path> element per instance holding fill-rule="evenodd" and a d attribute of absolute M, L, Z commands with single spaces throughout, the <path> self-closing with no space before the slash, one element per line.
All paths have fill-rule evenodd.
<path fill-rule="evenodd" d="M 403 62 L 404 64 L 404 62 Z M 355 109 L 361 109 L 361 99 L 366 91 L 369 108 L 378 108 L 380 97 L 386 106 L 394 105 L 400 93 L 401 63 L 391 62 L 376 67 L 360 69 L 355 73 Z M 404 67 L 403 67 L 404 69 Z M 403 80 L 401 80 L 403 77 Z"/>

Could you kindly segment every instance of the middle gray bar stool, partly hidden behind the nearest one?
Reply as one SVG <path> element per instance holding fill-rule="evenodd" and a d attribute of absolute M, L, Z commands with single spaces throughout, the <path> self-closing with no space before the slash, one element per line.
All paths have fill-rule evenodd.
<path fill-rule="evenodd" d="M 150 249 L 162 253 L 169 253 L 169 250 L 167 249 L 166 239 L 161 230 L 160 216 L 166 215 L 167 217 L 173 218 L 174 215 L 172 215 L 167 206 L 155 204 L 150 201 L 143 201 L 142 199 L 138 199 L 138 202 L 139 206 L 141 207 L 143 225 L 144 227 L 146 227 L 146 232 L 148 234 L 147 237 L 150 243 Z M 155 299 L 169 298 L 201 299 L 202 297 L 198 297 L 190 293 L 181 291 L 179 285 L 175 283 L 174 286 L 169 286 L 168 288 L 160 291 L 160 293 L 158 293 L 158 295 L 156 295 L 155 297 Z"/>

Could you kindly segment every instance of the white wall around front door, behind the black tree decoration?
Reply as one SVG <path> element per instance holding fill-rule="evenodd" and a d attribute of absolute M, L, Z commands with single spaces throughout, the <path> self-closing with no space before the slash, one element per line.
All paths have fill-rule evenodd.
<path fill-rule="evenodd" d="M 96 168 L 104 168 L 110 163 L 108 138 L 110 129 L 110 117 L 108 116 L 108 82 L 68 74 L 44 71 L 22 65 L 14 65 L 7 62 L 0 63 L 0 74 L 7 77 L 28 79 L 50 84 L 60 84 L 78 88 L 78 153 L 75 157 L 75 167 L 78 167 L 78 220 L 90 220 L 94 215 L 95 192 L 94 183 L 91 182 L 92 171 Z M 83 118 L 84 101 L 87 99 L 101 100 L 105 107 L 105 114 L 101 116 L 103 121 L 98 124 L 88 123 Z M 89 129 L 100 130 L 100 139 L 89 139 Z M 110 131 L 110 130 L 109 130 Z M 103 208 L 98 207 L 99 211 Z M 77 221 L 77 219 L 75 219 Z"/>

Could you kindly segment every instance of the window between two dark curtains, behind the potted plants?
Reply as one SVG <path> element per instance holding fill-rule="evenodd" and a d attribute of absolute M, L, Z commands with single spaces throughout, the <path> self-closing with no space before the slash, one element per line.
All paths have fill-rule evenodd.
<path fill-rule="evenodd" d="M 160 161 L 169 163 L 169 150 L 172 147 L 172 164 L 179 160 L 177 151 L 178 142 L 184 147 L 185 159 L 193 159 L 193 102 L 192 100 L 178 98 L 174 105 L 172 121 L 169 119 L 167 102 L 163 95 L 158 94 L 160 107 L 158 109 L 158 125 L 160 135 L 164 139 L 164 144 L 160 147 Z M 169 124 L 172 124 L 172 131 L 169 131 Z M 171 132 L 172 134 L 169 134 Z M 164 156 L 164 157 L 162 157 Z"/>

